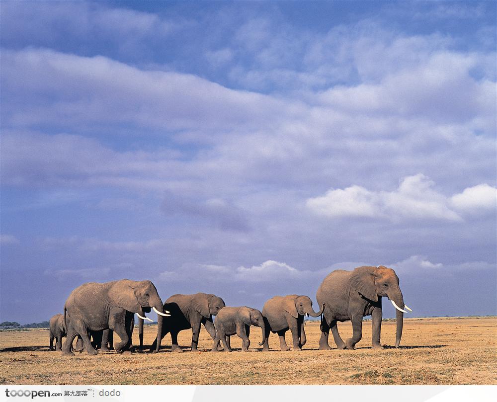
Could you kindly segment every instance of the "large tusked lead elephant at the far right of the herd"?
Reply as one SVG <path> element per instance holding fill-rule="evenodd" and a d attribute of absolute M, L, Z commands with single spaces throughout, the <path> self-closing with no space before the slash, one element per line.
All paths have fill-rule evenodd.
<path fill-rule="evenodd" d="M 362 318 L 371 316 L 373 348 L 383 349 L 380 343 L 382 297 L 388 297 L 404 309 L 399 278 L 393 269 L 380 265 L 358 267 L 353 271 L 339 269 L 331 272 L 323 280 L 316 294 L 320 305 L 326 303 L 321 321 L 319 348 L 330 349 L 328 335 L 331 329 L 338 349 L 354 349 L 355 344 L 362 338 Z M 347 320 L 352 322 L 353 335 L 343 342 L 338 334 L 336 322 Z M 403 320 L 404 314 L 397 311 L 396 347 L 401 341 Z"/>

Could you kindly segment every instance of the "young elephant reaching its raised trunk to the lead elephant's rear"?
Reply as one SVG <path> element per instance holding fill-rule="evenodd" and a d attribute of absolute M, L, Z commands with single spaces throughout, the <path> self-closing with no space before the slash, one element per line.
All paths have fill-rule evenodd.
<path fill-rule="evenodd" d="M 323 308 L 315 312 L 309 296 L 287 295 L 274 296 L 269 299 L 262 308 L 264 318 L 265 335 L 263 351 L 269 350 L 269 334 L 277 333 L 280 339 L 281 350 L 290 350 L 285 341 L 285 333 L 290 329 L 292 332 L 293 350 L 302 350 L 306 344 L 306 332 L 304 330 L 304 316 L 319 317 Z"/>

